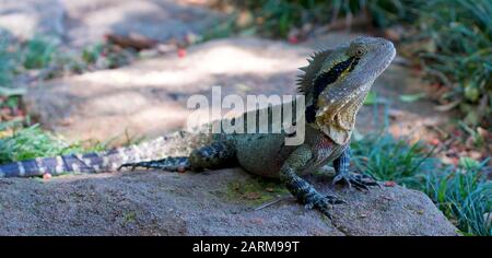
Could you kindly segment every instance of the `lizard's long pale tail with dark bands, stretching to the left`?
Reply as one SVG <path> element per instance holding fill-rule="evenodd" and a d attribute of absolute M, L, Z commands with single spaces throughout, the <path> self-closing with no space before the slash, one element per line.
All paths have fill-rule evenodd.
<path fill-rule="evenodd" d="M 86 154 L 12 162 L 0 165 L 0 177 L 32 177 L 44 174 L 116 172 L 126 163 L 157 160 L 166 156 L 187 156 L 194 148 L 208 142 L 203 134 L 174 132 L 155 140 L 126 148 Z"/>

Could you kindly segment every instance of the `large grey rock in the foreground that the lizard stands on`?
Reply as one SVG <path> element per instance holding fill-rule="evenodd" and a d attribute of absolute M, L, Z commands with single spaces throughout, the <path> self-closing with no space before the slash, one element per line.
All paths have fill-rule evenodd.
<path fill-rule="evenodd" d="M 255 202 L 234 190 L 261 179 L 239 168 L 1 178 L 0 235 L 457 235 L 422 192 L 399 186 L 366 192 L 333 188 L 323 175 L 307 179 L 348 202 L 333 208 L 332 221 L 293 198 L 255 210 L 268 199 Z"/>

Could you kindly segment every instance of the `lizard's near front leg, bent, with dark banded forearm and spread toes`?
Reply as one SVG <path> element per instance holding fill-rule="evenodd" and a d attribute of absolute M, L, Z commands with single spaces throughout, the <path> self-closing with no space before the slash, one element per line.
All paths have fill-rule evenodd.
<path fill-rule="evenodd" d="M 308 145 L 303 144 L 295 149 L 286 159 L 280 169 L 280 179 L 289 191 L 307 208 L 316 208 L 331 219 L 330 206 L 344 203 L 335 196 L 319 194 L 309 183 L 297 175 L 313 160 L 313 153 Z"/>

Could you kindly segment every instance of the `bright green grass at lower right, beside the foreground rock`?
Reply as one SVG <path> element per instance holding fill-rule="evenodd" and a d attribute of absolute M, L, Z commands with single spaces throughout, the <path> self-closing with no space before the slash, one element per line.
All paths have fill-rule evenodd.
<path fill-rule="evenodd" d="M 351 146 L 358 169 L 425 192 L 465 235 L 492 235 L 492 184 L 482 172 L 488 161 L 461 157 L 458 167 L 444 166 L 424 143 L 388 133 L 366 136 Z"/>

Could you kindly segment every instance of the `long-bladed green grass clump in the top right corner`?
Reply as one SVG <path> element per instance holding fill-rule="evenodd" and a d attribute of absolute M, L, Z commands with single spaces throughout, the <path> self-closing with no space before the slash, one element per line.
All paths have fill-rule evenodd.
<path fill-rule="evenodd" d="M 461 101 L 467 124 L 492 114 L 492 2 L 432 0 L 420 7 L 420 37 L 435 45 L 420 55 L 424 69 Z M 479 108 L 475 108 L 478 106 Z"/>

